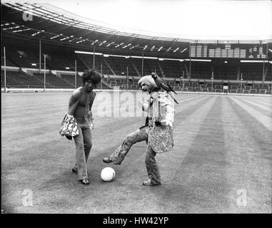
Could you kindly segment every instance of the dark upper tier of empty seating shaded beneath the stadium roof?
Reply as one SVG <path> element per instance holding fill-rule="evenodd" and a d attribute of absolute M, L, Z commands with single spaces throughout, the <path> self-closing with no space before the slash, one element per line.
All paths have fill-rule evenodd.
<path fill-rule="evenodd" d="M 99 56 L 75 53 L 71 49 L 46 48 L 42 53 L 46 53 L 46 69 L 59 71 L 84 71 L 95 68 L 104 75 L 121 76 L 126 75 L 129 68 L 129 76 L 148 75 L 156 72 L 166 78 L 190 78 L 191 79 L 211 79 L 236 80 L 243 74 L 244 81 L 262 81 L 263 73 L 266 81 L 272 80 L 271 63 L 242 63 L 240 61 L 169 61 L 164 59 L 151 58 L 124 58 L 116 56 Z M 95 58 L 95 59 L 94 59 Z M 75 63 L 76 61 L 76 63 Z M 94 66 L 95 63 L 95 66 Z M 143 66 L 142 66 L 143 63 Z M 36 64 L 36 66 L 35 66 Z M 4 59 L 1 58 L 1 65 Z M 6 66 L 18 66 L 21 68 L 39 68 L 39 48 L 11 47 L 6 48 Z M 191 67 L 191 68 L 190 68 Z M 41 56 L 41 68 L 44 69 L 44 56 Z M 142 72 L 143 71 L 143 72 Z"/>

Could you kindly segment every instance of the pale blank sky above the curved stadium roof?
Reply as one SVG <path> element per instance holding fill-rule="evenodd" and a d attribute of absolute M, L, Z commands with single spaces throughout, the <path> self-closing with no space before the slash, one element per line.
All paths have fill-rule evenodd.
<path fill-rule="evenodd" d="M 19 2 L 19 1 L 15 1 Z M 33 1 L 31 1 L 33 2 Z M 109 27 L 196 39 L 272 38 L 272 1 L 46 0 Z"/>

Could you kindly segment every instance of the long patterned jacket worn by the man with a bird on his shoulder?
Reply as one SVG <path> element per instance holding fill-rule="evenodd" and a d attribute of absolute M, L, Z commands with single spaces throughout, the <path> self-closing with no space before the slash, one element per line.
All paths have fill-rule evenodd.
<path fill-rule="evenodd" d="M 149 103 L 143 106 L 148 112 L 148 143 L 155 152 L 167 152 L 173 148 L 173 121 L 175 115 L 174 101 L 161 90 L 151 93 Z"/>

